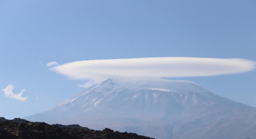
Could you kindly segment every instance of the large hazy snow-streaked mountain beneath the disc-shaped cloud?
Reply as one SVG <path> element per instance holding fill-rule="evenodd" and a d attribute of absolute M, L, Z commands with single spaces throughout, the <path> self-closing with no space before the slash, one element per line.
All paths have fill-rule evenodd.
<path fill-rule="evenodd" d="M 256 137 L 255 117 L 256 108 L 190 81 L 108 79 L 24 119 L 108 127 L 158 139 L 240 139 Z"/>

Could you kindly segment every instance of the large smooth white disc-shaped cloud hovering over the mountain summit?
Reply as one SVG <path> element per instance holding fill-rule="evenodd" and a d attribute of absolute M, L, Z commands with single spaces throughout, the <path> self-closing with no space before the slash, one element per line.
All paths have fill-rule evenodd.
<path fill-rule="evenodd" d="M 131 58 L 75 61 L 52 70 L 73 79 L 102 81 L 107 78 L 191 77 L 235 74 L 255 69 L 248 59 L 220 58 Z"/>

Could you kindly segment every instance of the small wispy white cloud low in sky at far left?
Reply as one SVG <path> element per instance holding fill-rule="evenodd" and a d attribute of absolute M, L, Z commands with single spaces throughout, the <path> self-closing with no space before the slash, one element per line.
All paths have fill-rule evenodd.
<path fill-rule="evenodd" d="M 6 88 L 2 89 L 2 92 L 4 92 L 5 94 L 5 97 L 16 99 L 21 102 L 25 102 L 28 99 L 27 97 L 22 97 L 22 93 L 25 91 L 25 89 L 22 89 L 20 93 L 15 94 L 12 92 L 13 88 L 13 85 L 8 85 Z"/>

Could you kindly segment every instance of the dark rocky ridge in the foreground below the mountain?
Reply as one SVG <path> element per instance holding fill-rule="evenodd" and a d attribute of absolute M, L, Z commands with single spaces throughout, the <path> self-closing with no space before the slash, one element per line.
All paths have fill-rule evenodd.
<path fill-rule="evenodd" d="M 94 131 L 79 127 L 61 128 L 62 125 L 49 125 L 44 122 L 2 121 L 0 120 L 0 139 L 153 139 L 135 133 L 114 132 L 107 128 Z"/>

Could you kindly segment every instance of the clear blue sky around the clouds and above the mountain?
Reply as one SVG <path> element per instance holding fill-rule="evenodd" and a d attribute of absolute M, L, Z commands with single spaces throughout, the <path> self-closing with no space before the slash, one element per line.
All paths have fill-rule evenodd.
<path fill-rule="evenodd" d="M 197 57 L 256 61 L 255 0 L 0 0 L 0 117 L 25 117 L 85 88 L 49 70 L 94 59 Z M 256 71 L 175 77 L 256 107 Z"/>

